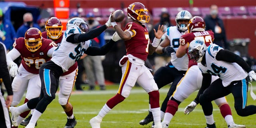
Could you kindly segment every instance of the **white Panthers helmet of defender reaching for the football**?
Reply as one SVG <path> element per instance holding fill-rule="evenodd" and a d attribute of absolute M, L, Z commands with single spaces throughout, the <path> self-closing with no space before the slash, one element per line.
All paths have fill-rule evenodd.
<path fill-rule="evenodd" d="M 74 17 L 68 20 L 66 27 L 75 26 L 81 30 L 81 33 L 89 32 L 88 25 L 82 18 Z"/>

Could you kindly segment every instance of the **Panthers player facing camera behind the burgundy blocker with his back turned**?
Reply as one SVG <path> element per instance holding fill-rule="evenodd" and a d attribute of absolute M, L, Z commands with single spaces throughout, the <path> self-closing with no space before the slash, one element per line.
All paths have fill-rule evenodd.
<path fill-rule="evenodd" d="M 191 18 L 192 15 L 187 10 L 182 10 L 178 12 L 175 18 L 176 26 L 171 26 L 166 29 L 167 32 L 164 33 L 164 36 L 166 37 L 156 48 L 156 53 L 166 53 L 169 56 L 171 56 L 171 61 L 168 64 L 166 64 L 166 66 L 160 67 L 154 73 L 154 80 L 156 81 L 156 84 L 159 89 L 172 82 L 172 86 L 170 86 L 167 96 L 164 99 L 161 106 L 161 119 L 164 118 L 164 112 L 166 110 L 167 102 L 170 96 L 172 96 L 178 82 L 188 70 L 188 56 L 185 54 L 182 58 L 177 58 L 175 51 L 179 47 L 180 36 L 184 35 L 185 32 L 188 30 L 187 25 Z M 146 118 L 140 121 L 140 124 L 145 125 L 152 121 L 153 116 L 149 108 L 148 115 L 146 116 Z M 152 127 L 153 126 L 154 123 L 152 124 Z"/>

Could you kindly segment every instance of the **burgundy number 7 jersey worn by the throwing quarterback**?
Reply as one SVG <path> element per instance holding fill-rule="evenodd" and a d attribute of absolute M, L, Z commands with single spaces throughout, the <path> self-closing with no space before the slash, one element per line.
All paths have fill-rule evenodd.
<path fill-rule="evenodd" d="M 130 22 L 126 24 L 124 30 L 130 30 L 135 33 L 135 36 L 125 41 L 126 55 L 132 54 L 132 56 L 146 61 L 148 57 L 148 45 L 150 43 L 146 26 Z"/>

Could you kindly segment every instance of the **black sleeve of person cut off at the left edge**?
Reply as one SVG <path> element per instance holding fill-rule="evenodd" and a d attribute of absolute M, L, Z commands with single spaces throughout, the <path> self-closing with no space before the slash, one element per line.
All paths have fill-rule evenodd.
<path fill-rule="evenodd" d="M 0 44 L 0 78 L 3 79 L 8 95 L 13 95 L 12 82 L 7 68 L 4 46 Z"/>

